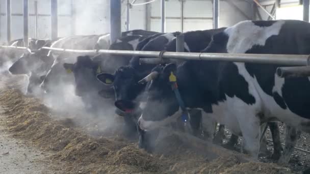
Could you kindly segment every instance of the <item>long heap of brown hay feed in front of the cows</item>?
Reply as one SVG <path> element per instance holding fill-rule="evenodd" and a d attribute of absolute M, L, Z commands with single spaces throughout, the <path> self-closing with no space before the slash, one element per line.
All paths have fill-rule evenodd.
<path fill-rule="evenodd" d="M 42 150 L 53 151 L 50 160 L 58 163 L 64 173 L 282 172 L 275 164 L 239 164 L 234 156 L 211 160 L 173 134 L 157 142 L 156 154 L 150 155 L 139 150 L 136 142 L 131 143 L 121 136 L 90 136 L 85 127 L 75 124 L 74 117 L 53 120 L 50 110 L 40 100 L 25 97 L 16 90 L 3 90 L 0 104 L 8 130 Z M 88 125 L 97 131 L 95 122 Z"/>

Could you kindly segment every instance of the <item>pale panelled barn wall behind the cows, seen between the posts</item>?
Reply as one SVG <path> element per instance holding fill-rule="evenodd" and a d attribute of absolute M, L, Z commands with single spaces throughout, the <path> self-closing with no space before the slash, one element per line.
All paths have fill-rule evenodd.
<path fill-rule="evenodd" d="M 22 0 L 12 1 L 12 13 L 22 14 Z M 34 1 L 29 0 L 29 12 L 34 13 Z M 76 22 L 72 23 L 72 0 L 59 0 L 58 14 L 59 37 L 72 34 L 71 28 L 75 26 L 76 35 L 91 35 L 110 32 L 110 0 L 74 0 L 76 9 Z M 137 0 L 136 3 L 144 3 L 147 0 Z M 6 42 L 6 0 L 0 0 L 0 41 Z M 150 20 L 146 19 L 146 5 L 133 6 L 131 9 L 130 29 L 149 29 L 160 31 L 160 0 L 151 3 Z M 167 32 L 181 31 L 181 5 L 179 0 L 166 2 Z M 50 14 L 50 0 L 38 0 L 38 13 Z M 243 0 L 220 1 L 220 26 L 231 26 L 239 21 L 251 18 L 251 3 Z M 184 5 L 184 32 L 193 30 L 210 29 L 213 26 L 213 5 L 211 0 L 186 0 Z M 122 31 L 126 29 L 126 0 L 122 0 L 121 9 Z M 22 16 L 12 16 L 12 39 L 22 38 Z M 50 38 L 50 17 L 38 17 L 38 38 Z M 29 36 L 35 37 L 35 17 L 29 17 Z"/>

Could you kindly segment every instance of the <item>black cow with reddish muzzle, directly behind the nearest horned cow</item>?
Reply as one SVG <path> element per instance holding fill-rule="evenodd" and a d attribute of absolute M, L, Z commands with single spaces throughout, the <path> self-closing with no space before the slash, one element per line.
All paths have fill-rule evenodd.
<path fill-rule="evenodd" d="M 199 52 L 202 49 L 204 49 L 206 46 L 208 46 L 209 42 L 211 41 L 211 37 L 213 34 L 223 31 L 224 28 L 219 28 L 216 30 L 206 30 L 206 31 L 194 31 L 194 32 L 187 32 L 182 35 L 185 37 L 185 44 L 184 49 L 187 52 L 193 51 L 193 52 Z M 149 41 L 143 48 L 143 51 L 162 51 L 162 50 L 168 50 L 168 51 L 175 51 L 175 34 L 164 34 L 162 36 L 159 36 L 155 39 L 152 39 Z M 140 65 L 139 64 L 139 57 L 134 57 L 131 60 L 130 65 L 120 67 L 118 70 L 116 70 L 115 74 L 107 74 L 102 73 L 98 74 L 97 78 L 105 83 L 106 81 L 113 82 L 114 89 L 115 89 L 115 95 L 116 95 L 116 107 L 118 107 L 118 110 L 127 111 L 128 112 L 137 112 L 137 110 L 140 110 L 138 101 L 141 100 L 141 97 L 138 97 L 143 89 L 145 88 L 144 84 L 138 84 L 138 81 L 141 80 L 146 74 L 148 74 L 153 66 L 147 66 L 147 65 Z M 109 80 L 107 80 L 109 79 Z M 138 98 L 137 98 L 138 97 Z M 128 108 L 121 108 L 125 107 L 126 105 L 132 105 L 136 106 L 135 109 L 128 109 Z M 192 112 L 191 115 L 194 117 L 197 117 L 197 120 L 195 122 L 191 122 L 192 127 L 199 126 L 199 115 L 195 115 Z M 124 113 L 122 113 L 124 114 Z M 133 115 L 133 114 L 131 114 Z M 193 119 L 194 120 L 194 119 Z M 196 125 L 196 126 L 195 126 Z M 221 125 L 219 131 L 221 133 L 217 134 L 217 138 L 215 138 L 217 141 L 221 142 L 221 134 L 223 134 L 224 127 Z M 194 129 L 194 134 L 198 135 L 198 130 Z M 211 130 L 206 131 L 211 132 Z M 140 132 L 143 134 L 143 132 Z M 155 135 L 156 136 L 156 135 Z M 207 135 L 206 135 L 207 136 Z M 209 135 L 210 137 L 211 135 Z M 145 138 L 147 138 L 145 136 Z M 234 146 L 234 144 L 237 142 L 238 136 L 236 137 L 233 135 L 229 141 L 230 146 Z M 151 142 L 144 143 L 142 140 L 139 141 L 140 148 L 144 148 L 148 151 L 151 151 Z"/>

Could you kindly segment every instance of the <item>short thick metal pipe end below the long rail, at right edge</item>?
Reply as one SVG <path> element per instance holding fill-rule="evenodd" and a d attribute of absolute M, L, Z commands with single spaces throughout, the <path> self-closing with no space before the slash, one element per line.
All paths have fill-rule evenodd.
<path fill-rule="evenodd" d="M 282 78 L 289 77 L 310 77 L 310 66 L 302 67 L 279 67 L 277 75 Z"/>

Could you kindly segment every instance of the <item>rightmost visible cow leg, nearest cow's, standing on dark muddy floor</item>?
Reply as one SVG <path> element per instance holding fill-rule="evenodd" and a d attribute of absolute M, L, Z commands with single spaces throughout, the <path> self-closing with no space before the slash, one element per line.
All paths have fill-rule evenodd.
<path fill-rule="evenodd" d="M 278 160 L 279 164 L 288 164 L 290 161 L 291 154 L 294 151 L 294 147 L 296 146 L 297 140 L 299 139 L 301 131 L 286 125 L 286 141 L 285 141 L 285 149 L 280 159 Z"/>

